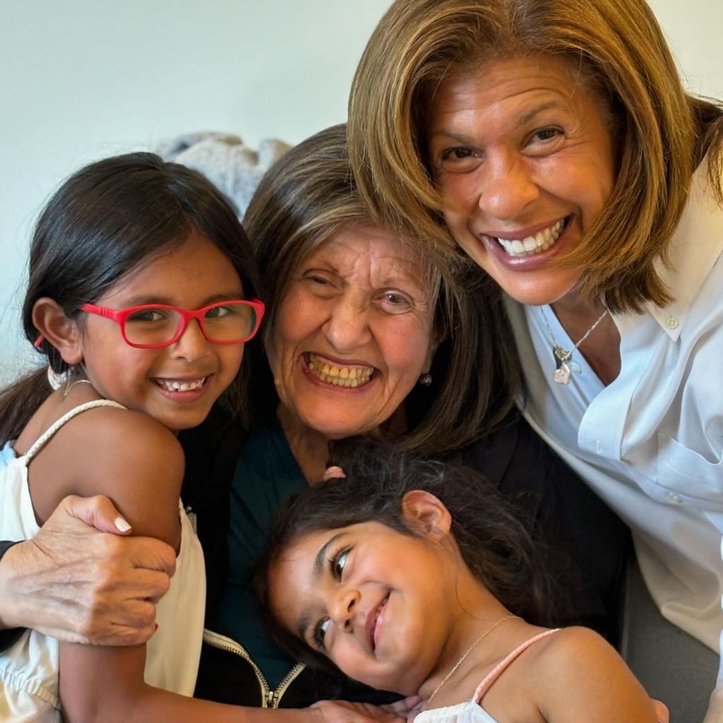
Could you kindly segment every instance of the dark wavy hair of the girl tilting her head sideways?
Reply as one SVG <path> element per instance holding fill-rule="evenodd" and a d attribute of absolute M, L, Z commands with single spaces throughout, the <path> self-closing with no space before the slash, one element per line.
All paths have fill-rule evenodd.
<path fill-rule="evenodd" d="M 275 562 L 306 534 L 364 522 L 414 536 L 402 509 L 404 496 L 414 489 L 432 493 L 449 510 L 463 561 L 505 607 L 536 625 L 555 619 L 554 581 L 509 502 L 482 474 L 419 458 L 371 437 L 335 442 L 332 463 L 341 466 L 346 478 L 315 484 L 288 502 L 276 518 L 254 580 L 271 633 L 294 659 L 327 669 L 331 665 L 274 620 L 269 575 Z"/>

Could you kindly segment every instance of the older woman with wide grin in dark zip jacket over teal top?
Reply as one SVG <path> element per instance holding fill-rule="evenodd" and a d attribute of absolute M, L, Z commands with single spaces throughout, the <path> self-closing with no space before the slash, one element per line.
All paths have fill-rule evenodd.
<path fill-rule="evenodd" d="M 245 221 L 270 317 L 268 362 L 252 359 L 252 431 L 219 410 L 183 438 L 184 502 L 197 515 L 209 585 L 197 695 L 274 707 L 384 700 L 289 660 L 265 638 L 249 586 L 273 515 L 320 478 L 330 440 L 350 435 L 385 435 L 484 471 L 549 546 L 570 593 L 554 619 L 614 634 L 625 529 L 514 411 L 517 367 L 496 287 L 458 290 L 372 223 L 351 182 L 344 127 L 291 150 Z M 38 621 L 48 624 L 18 620 Z"/>

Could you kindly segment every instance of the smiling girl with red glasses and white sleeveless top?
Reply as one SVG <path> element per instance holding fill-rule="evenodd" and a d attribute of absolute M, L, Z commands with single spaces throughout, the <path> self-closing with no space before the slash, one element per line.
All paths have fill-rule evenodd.
<path fill-rule="evenodd" d="M 244 231 L 200 174 L 122 155 L 82 168 L 48 202 L 29 276 L 22 321 L 47 369 L 0 393 L 0 539 L 34 536 L 67 495 L 101 494 L 121 510 L 119 529 L 168 542 L 177 564 L 147 646 L 27 631 L 0 656 L 0 718 L 238 719 L 182 697 L 194 690 L 205 583 L 179 507 L 176 434 L 219 399 L 242 411 L 244 342 L 264 311 Z"/>

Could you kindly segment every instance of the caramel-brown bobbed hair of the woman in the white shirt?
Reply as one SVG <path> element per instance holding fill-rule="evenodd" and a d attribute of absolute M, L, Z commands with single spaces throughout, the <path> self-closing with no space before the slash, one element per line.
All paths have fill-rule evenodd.
<path fill-rule="evenodd" d="M 617 150 L 612 196 L 583 243 L 559 262 L 583 268 L 580 289 L 614 312 L 664 305 L 655 263 L 708 154 L 723 202 L 723 119 L 718 103 L 685 93 L 644 0 L 396 0 L 359 63 L 349 99 L 349 148 L 374 218 L 414 229 L 440 248 L 452 239 L 425 162 L 427 113 L 445 78 L 487 61 L 554 56 L 607 106 Z"/>

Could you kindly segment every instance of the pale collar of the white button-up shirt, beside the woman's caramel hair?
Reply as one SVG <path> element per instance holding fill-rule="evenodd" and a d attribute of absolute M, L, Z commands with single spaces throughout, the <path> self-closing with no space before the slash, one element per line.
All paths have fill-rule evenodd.
<path fill-rule="evenodd" d="M 691 179 L 688 203 L 670 242 L 668 264 L 661 260 L 655 263 L 673 301 L 667 307 L 645 302 L 648 312 L 672 341 L 680 337 L 690 304 L 721 252 L 723 208 L 714 198 L 708 183 L 708 163 L 703 160 Z"/>

